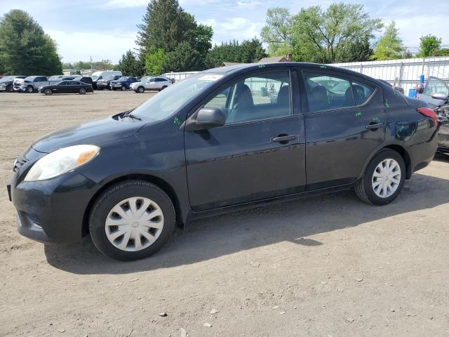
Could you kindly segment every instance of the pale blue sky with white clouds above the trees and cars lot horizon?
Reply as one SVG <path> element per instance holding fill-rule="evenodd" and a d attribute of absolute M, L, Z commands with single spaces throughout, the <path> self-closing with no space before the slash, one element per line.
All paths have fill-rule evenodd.
<path fill-rule="evenodd" d="M 118 62 L 128 49 L 135 48 L 136 25 L 142 22 L 148 0 L 0 0 L 0 16 L 11 9 L 27 11 L 45 32 L 55 39 L 62 62 L 109 59 Z M 335 1 L 274 0 L 179 0 L 185 11 L 199 23 L 213 27 L 213 44 L 232 39 L 259 37 L 268 8 L 286 6 L 290 13 L 300 8 Z M 366 0 L 343 1 L 363 4 L 371 18 L 384 23 L 396 21 L 403 44 L 415 51 L 420 37 L 434 34 L 449 46 L 448 0 Z M 431 4 L 427 6 L 427 4 Z"/>

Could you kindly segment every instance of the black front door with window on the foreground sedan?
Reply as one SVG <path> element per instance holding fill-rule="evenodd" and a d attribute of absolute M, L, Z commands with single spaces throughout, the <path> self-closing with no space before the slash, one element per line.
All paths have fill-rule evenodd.
<path fill-rule="evenodd" d="M 224 126 L 185 132 L 189 199 L 194 210 L 302 192 L 304 123 L 296 73 L 258 70 L 220 89 Z"/>

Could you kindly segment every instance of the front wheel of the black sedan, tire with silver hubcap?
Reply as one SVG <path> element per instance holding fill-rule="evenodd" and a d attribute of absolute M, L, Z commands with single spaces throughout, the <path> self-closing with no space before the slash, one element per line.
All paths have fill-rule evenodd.
<path fill-rule="evenodd" d="M 158 211 L 161 214 L 159 219 L 158 216 L 155 216 L 154 218 L 143 218 L 142 221 L 144 224 L 148 224 L 154 223 L 149 222 L 149 220 L 156 219 L 155 224 L 158 224 L 157 226 L 159 226 L 159 228 L 141 225 L 140 222 L 133 217 L 134 213 L 128 202 L 128 199 L 130 198 L 135 198 L 132 200 L 135 201 L 136 214 L 142 212 L 141 209 L 138 208 L 139 201 L 142 202 L 140 207 L 142 207 L 145 200 L 151 201 L 151 204 L 149 204 L 150 206 L 143 211 L 144 213 L 141 213 L 142 215 L 140 217 L 142 219 L 142 217 L 151 216 L 152 212 Z M 126 205 L 128 205 L 128 209 L 126 209 Z M 119 216 L 119 213 L 114 212 L 113 209 L 122 213 L 123 216 L 130 216 L 131 220 Z M 119 220 L 119 222 L 122 223 L 120 226 L 123 226 L 123 230 L 119 229 L 119 225 L 111 225 L 111 223 L 116 220 Z M 157 221 L 159 221 L 159 223 Z M 107 225 L 107 223 L 109 223 L 109 225 Z M 162 226 L 160 224 L 162 224 Z M 100 194 L 93 204 L 89 216 L 89 229 L 93 243 L 105 256 L 121 261 L 147 258 L 159 251 L 159 249 L 168 242 L 168 239 L 170 239 L 170 236 L 175 229 L 175 209 L 167 194 L 156 185 L 148 183 L 145 180 L 126 180 L 112 185 L 112 187 L 109 187 L 105 192 Z M 146 239 L 148 236 L 143 233 L 143 230 L 147 230 L 147 234 L 150 233 L 150 238 L 156 238 L 155 241 L 149 242 L 149 240 Z M 117 236 L 117 234 L 120 233 L 116 232 L 120 231 L 124 232 L 124 234 Z M 128 234 L 128 240 L 126 240 L 127 233 L 131 233 Z M 135 233 L 138 233 L 140 237 L 139 249 L 137 242 L 135 241 Z M 123 244 L 125 244 L 125 246 L 123 246 Z M 119 248 L 120 245 L 122 245 L 121 248 Z"/>

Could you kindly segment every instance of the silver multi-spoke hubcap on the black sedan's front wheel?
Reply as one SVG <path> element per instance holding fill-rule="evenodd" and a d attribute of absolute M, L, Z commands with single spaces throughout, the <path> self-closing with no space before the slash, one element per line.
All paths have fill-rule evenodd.
<path fill-rule="evenodd" d="M 151 246 L 162 232 L 163 213 L 156 202 L 133 197 L 116 204 L 105 221 L 107 239 L 121 251 Z"/>

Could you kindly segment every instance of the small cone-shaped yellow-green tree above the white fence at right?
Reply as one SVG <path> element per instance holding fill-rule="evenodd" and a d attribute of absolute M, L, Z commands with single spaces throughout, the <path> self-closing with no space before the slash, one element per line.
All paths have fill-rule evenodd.
<path fill-rule="evenodd" d="M 405 51 L 396 24 L 391 21 L 385 29 L 384 35 L 377 42 L 371 58 L 373 60 L 395 60 L 401 58 Z"/>

